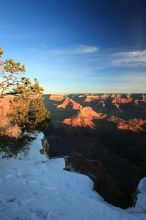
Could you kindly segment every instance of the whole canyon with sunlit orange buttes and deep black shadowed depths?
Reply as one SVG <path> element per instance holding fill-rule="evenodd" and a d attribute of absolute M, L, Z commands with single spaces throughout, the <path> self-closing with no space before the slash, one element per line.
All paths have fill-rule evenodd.
<path fill-rule="evenodd" d="M 106 201 L 132 206 L 138 182 L 146 176 L 143 95 L 68 94 L 62 101 L 46 95 L 44 100 L 52 113 L 44 131 L 49 156 L 67 158 L 66 169 L 88 175 Z"/>

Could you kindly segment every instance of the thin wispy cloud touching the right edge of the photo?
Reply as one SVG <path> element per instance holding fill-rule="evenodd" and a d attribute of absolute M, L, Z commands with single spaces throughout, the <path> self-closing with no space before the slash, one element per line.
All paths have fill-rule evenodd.
<path fill-rule="evenodd" d="M 146 50 L 114 53 L 111 63 L 114 66 L 146 66 Z"/>

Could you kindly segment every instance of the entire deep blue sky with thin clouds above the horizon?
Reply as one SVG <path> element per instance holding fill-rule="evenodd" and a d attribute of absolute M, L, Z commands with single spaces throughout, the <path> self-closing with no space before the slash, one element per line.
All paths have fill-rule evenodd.
<path fill-rule="evenodd" d="M 145 92 L 145 0 L 0 0 L 0 47 L 46 93 Z"/>

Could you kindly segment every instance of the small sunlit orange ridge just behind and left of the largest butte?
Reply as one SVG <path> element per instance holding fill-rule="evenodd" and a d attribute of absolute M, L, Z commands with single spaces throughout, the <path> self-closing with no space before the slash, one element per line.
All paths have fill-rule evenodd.
<path fill-rule="evenodd" d="M 82 106 L 79 103 L 75 102 L 74 100 L 72 100 L 70 98 L 66 98 L 62 104 L 57 105 L 57 108 L 64 108 L 65 109 L 69 105 L 71 105 L 74 110 L 81 110 L 82 109 Z"/>

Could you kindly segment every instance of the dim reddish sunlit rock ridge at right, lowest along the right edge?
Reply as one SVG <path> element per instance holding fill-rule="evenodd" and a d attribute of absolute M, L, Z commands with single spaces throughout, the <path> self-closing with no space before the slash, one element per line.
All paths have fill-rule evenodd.
<path fill-rule="evenodd" d="M 129 120 L 124 120 L 122 118 L 118 118 L 115 116 L 112 116 L 109 121 L 112 121 L 117 124 L 118 129 L 121 130 L 129 130 L 133 132 L 140 132 L 143 131 L 143 126 L 146 123 L 146 120 L 143 119 L 129 119 Z"/>

